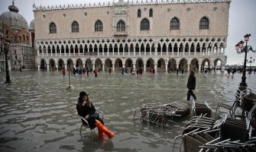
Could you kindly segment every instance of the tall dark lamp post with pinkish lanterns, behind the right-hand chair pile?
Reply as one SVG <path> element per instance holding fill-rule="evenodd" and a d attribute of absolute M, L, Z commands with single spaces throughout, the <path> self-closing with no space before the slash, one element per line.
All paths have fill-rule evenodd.
<path fill-rule="evenodd" d="M 240 83 L 239 87 L 247 87 L 247 84 L 246 84 L 246 81 L 245 81 L 246 80 L 245 74 L 246 74 L 247 53 L 250 52 L 250 51 L 256 52 L 256 50 L 253 50 L 251 46 L 247 45 L 247 42 L 248 42 L 250 36 L 251 36 L 250 33 L 246 34 L 244 36 L 245 37 L 245 42 L 241 40 L 239 43 L 237 43 L 235 45 L 235 49 L 236 49 L 238 54 L 241 54 L 242 52 L 245 52 L 243 75 L 241 77 L 241 83 Z M 244 46 L 244 43 L 245 43 L 245 46 Z"/>

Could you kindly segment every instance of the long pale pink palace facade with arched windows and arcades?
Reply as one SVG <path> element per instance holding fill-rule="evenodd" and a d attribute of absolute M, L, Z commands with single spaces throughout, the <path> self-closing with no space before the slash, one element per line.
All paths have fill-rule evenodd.
<path fill-rule="evenodd" d="M 37 69 L 224 71 L 229 0 L 35 6 Z"/>

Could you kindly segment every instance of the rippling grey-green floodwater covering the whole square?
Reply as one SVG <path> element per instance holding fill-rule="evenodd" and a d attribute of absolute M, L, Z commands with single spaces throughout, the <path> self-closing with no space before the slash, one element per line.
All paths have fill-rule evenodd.
<path fill-rule="evenodd" d="M 225 72 L 226 73 L 226 72 Z M 196 102 L 207 101 L 212 109 L 222 99 L 234 98 L 241 74 L 225 77 L 212 72 L 196 73 Z M 256 90 L 256 74 L 246 74 L 248 87 Z M 61 71 L 11 71 L 11 84 L 0 74 L 0 151 L 172 151 L 173 139 L 181 135 L 188 119 L 175 119 L 171 128 L 134 121 L 134 111 L 142 103 L 186 103 L 188 74 L 158 73 L 149 78 L 122 78 L 116 71 L 93 73 L 86 78 Z M 76 112 L 79 92 L 85 90 L 96 108 L 104 112 L 106 127 L 116 136 L 107 141 L 83 128 Z M 178 146 L 177 146 L 178 147 Z M 177 148 L 175 149 L 177 151 Z"/>

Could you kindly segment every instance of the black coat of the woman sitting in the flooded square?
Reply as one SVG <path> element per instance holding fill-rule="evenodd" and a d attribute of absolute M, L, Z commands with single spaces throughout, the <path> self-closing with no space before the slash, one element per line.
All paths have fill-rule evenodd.
<path fill-rule="evenodd" d="M 92 103 L 91 103 L 91 105 L 92 105 Z M 78 115 L 82 116 L 83 118 L 85 118 L 87 115 L 92 116 L 96 112 L 96 109 L 93 105 L 92 105 L 92 107 L 89 107 L 89 106 L 83 106 L 83 105 L 76 104 L 76 110 L 78 112 Z M 89 119 L 87 119 L 87 122 L 89 123 L 90 128 L 96 127 L 95 119 L 91 119 L 89 117 Z M 83 124 L 86 124 L 86 122 L 83 121 Z"/>

